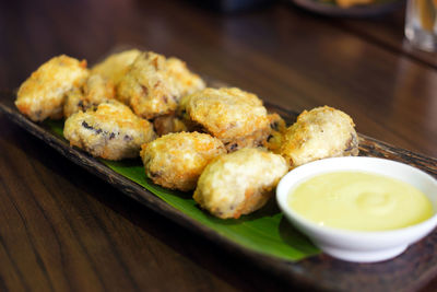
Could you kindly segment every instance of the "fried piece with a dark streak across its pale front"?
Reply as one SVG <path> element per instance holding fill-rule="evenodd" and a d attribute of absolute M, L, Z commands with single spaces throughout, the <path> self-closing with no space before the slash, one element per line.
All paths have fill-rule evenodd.
<path fill-rule="evenodd" d="M 66 120 L 63 136 L 71 145 L 107 160 L 137 157 L 141 144 L 155 138 L 151 122 L 117 101 L 73 114 Z"/>

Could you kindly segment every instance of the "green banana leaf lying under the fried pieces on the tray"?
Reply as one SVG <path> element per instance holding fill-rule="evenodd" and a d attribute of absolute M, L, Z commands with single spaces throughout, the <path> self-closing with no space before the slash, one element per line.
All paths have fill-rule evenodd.
<path fill-rule="evenodd" d="M 62 121 L 48 120 L 45 124 L 52 133 L 63 138 Z M 223 220 L 201 210 L 192 199 L 192 194 L 175 191 L 153 184 L 145 176 L 140 159 L 119 162 L 101 160 L 101 162 L 146 188 L 180 212 L 246 248 L 290 261 L 320 253 L 305 235 L 286 221 L 274 199 L 252 214 Z"/>

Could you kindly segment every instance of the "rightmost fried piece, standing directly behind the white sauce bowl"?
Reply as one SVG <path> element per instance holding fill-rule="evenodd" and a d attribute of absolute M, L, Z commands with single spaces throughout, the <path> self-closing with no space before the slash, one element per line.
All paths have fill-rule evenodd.
<path fill-rule="evenodd" d="M 286 129 L 277 151 L 291 167 L 335 156 L 358 155 L 352 118 L 329 106 L 304 110 Z"/>

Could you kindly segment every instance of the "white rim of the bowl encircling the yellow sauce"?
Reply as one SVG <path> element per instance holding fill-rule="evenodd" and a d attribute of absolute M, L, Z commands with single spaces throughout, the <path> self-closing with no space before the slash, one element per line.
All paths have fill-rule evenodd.
<path fill-rule="evenodd" d="M 331 171 L 327 171 L 327 170 L 318 171 L 316 167 L 320 164 L 329 165 L 330 163 L 335 163 L 338 161 L 353 161 L 354 164 L 351 166 L 347 166 L 347 167 L 340 166 L 340 168 L 333 168 Z M 381 236 L 397 237 L 397 236 L 403 235 L 404 233 L 410 233 L 410 232 L 413 232 L 413 231 L 416 231 L 420 229 L 434 227 L 437 224 L 437 206 L 435 203 L 433 203 L 434 214 L 430 218 L 428 218 L 427 220 L 416 223 L 414 225 L 406 226 L 406 227 L 383 230 L 383 231 L 355 231 L 355 230 L 346 230 L 346 229 L 340 229 L 340 227 L 319 225 L 319 224 L 306 219 L 305 217 L 298 214 L 297 212 L 295 212 L 292 208 L 290 208 L 287 206 L 287 198 L 290 196 L 288 192 L 291 189 L 293 189 L 297 185 L 300 185 L 305 180 L 307 180 L 316 175 L 320 175 L 320 174 L 324 174 L 324 173 L 342 172 L 342 171 L 358 171 L 359 172 L 361 167 L 363 167 L 363 166 L 361 166 L 359 163 L 363 163 L 365 161 L 371 161 L 371 162 L 376 162 L 376 163 L 379 162 L 379 163 L 391 164 L 391 165 L 404 167 L 409 172 L 418 174 L 420 176 L 423 177 L 423 179 L 428 179 L 429 182 L 432 182 L 432 184 L 434 184 L 434 186 L 435 186 L 435 189 L 437 190 L 437 179 L 436 178 L 434 178 L 432 175 L 425 173 L 424 171 L 421 171 L 421 170 L 413 167 L 405 163 L 401 163 L 401 162 L 392 161 L 392 160 L 388 160 L 388 159 L 367 157 L 367 156 L 329 157 L 329 159 L 317 160 L 317 161 L 309 162 L 307 164 L 297 166 L 296 168 L 293 168 L 292 171 L 290 171 L 287 174 L 285 174 L 281 178 L 280 183 L 276 186 L 276 201 L 277 201 L 277 205 L 279 205 L 281 211 L 286 217 L 290 217 L 292 221 L 297 221 L 299 224 L 305 225 L 307 229 L 310 229 L 312 232 L 317 231 L 318 233 L 335 235 L 335 236 L 355 236 L 355 237 L 366 237 L 366 238 L 367 237 L 370 238 L 370 237 L 375 237 L 375 236 L 378 236 L 379 238 Z M 304 178 L 300 178 L 297 182 L 294 182 L 293 184 L 291 184 L 287 187 L 287 184 L 290 184 L 287 182 L 287 179 L 291 179 L 290 177 L 293 177 L 296 174 L 300 174 L 302 172 L 305 172 L 310 167 L 314 167 L 314 170 L 310 171 L 309 174 L 305 175 Z M 336 167 L 339 167 L 339 166 L 336 166 Z M 368 171 L 368 170 L 362 170 L 362 171 L 366 172 L 366 173 L 374 173 L 374 174 L 378 174 L 378 175 L 393 177 L 393 176 L 390 176 L 390 174 L 387 174 L 387 172 L 381 172 L 380 168 L 378 170 L 378 172 L 373 172 L 373 171 Z M 402 179 L 399 179 L 399 180 L 402 180 Z M 408 183 L 408 182 L 405 182 L 405 183 Z M 410 183 L 408 183 L 408 184 L 410 184 Z M 435 196 L 437 196 L 437 194 Z"/>

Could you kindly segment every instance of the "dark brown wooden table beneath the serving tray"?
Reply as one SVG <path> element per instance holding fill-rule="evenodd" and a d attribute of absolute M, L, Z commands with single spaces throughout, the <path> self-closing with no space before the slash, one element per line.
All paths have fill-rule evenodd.
<path fill-rule="evenodd" d="M 16 89 L 55 55 L 93 63 L 135 46 L 290 109 L 343 109 L 359 132 L 437 156 L 437 55 L 403 44 L 403 14 L 330 19 L 287 3 L 223 15 L 186 1 L 2 2 L 0 89 Z M 0 290 L 284 289 L 4 116 L 0 132 Z"/>

